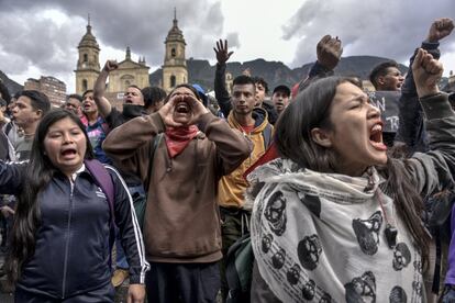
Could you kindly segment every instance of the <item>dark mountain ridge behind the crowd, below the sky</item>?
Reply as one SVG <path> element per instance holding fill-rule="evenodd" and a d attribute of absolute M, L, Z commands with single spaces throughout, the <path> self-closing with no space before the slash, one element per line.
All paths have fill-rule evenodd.
<path fill-rule="evenodd" d="M 363 80 L 368 79 L 371 69 L 379 63 L 388 60 L 387 58 L 373 56 L 351 56 L 343 57 L 339 66 L 335 68 L 335 75 L 356 76 Z M 233 77 L 242 74 L 243 70 L 249 68 L 253 76 L 263 77 L 271 91 L 278 85 L 287 85 L 292 87 L 301 79 L 307 77 L 313 64 L 306 64 L 299 68 L 290 69 L 281 61 L 266 61 L 264 59 L 255 59 L 252 61 L 228 63 L 226 71 Z M 407 72 L 408 67 L 399 65 L 401 72 Z M 187 60 L 188 78 L 191 83 L 199 83 L 206 90 L 213 90 L 213 80 L 215 66 L 211 66 L 208 60 L 189 59 Z M 163 70 L 159 68 L 149 75 L 151 86 L 158 86 L 162 81 Z"/>

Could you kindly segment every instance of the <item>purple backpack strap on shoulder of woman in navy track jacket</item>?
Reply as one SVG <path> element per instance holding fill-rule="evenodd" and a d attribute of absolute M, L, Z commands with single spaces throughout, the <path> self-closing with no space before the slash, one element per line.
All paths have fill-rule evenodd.
<path fill-rule="evenodd" d="M 111 213 L 111 220 L 109 224 L 109 247 L 112 250 L 113 244 L 115 242 L 115 189 L 111 178 L 109 175 L 108 169 L 96 159 L 91 160 L 84 160 L 87 169 L 90 171 L 91 176 L 93 176 L 95 182 L 99 186 L 102 192 L 106 194 L 106 200 L 108 200 L 109 211 Z M 111 256 L 111 254 L 109 254 Z M 109 262 L 111 262 L 111 258 L 109 258 Z"/>

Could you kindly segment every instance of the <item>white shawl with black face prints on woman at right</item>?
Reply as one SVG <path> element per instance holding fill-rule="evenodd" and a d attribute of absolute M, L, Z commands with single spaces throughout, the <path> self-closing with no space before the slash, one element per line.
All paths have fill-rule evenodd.
<path fill-rule="evenodd" d="M 279 300 L 425 301 L 420 251 L 375 168 L 348 177 L 278 158 L 255 169 L 248 181 L 254 255 Z M 387 223 L 398 229 L 392 248 Z"/>

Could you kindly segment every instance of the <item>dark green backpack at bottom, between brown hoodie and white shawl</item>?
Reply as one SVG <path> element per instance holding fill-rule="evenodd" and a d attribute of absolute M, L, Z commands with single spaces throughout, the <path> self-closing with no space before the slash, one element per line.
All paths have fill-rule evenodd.
<path fill-rule="evenodd" d="M 249 302 L 254 254 L 249 234 L 238 238 L 228 250 L 226 282 L 229 293 L 226 303 Z"/>

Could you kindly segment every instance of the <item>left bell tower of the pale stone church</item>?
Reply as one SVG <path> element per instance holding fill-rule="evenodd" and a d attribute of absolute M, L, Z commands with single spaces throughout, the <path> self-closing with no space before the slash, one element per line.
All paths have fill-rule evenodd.
<path fill-rule="evenodd" d="M 87 32 L 77 46 L 79 59 L 77 60 L 76 93 L 84 93 L 88 89 L 93 89 L 95 81 L 100 74 L 100 46 L 97 38 L 91 33 L 90 15 L 88 16 Z"/>

